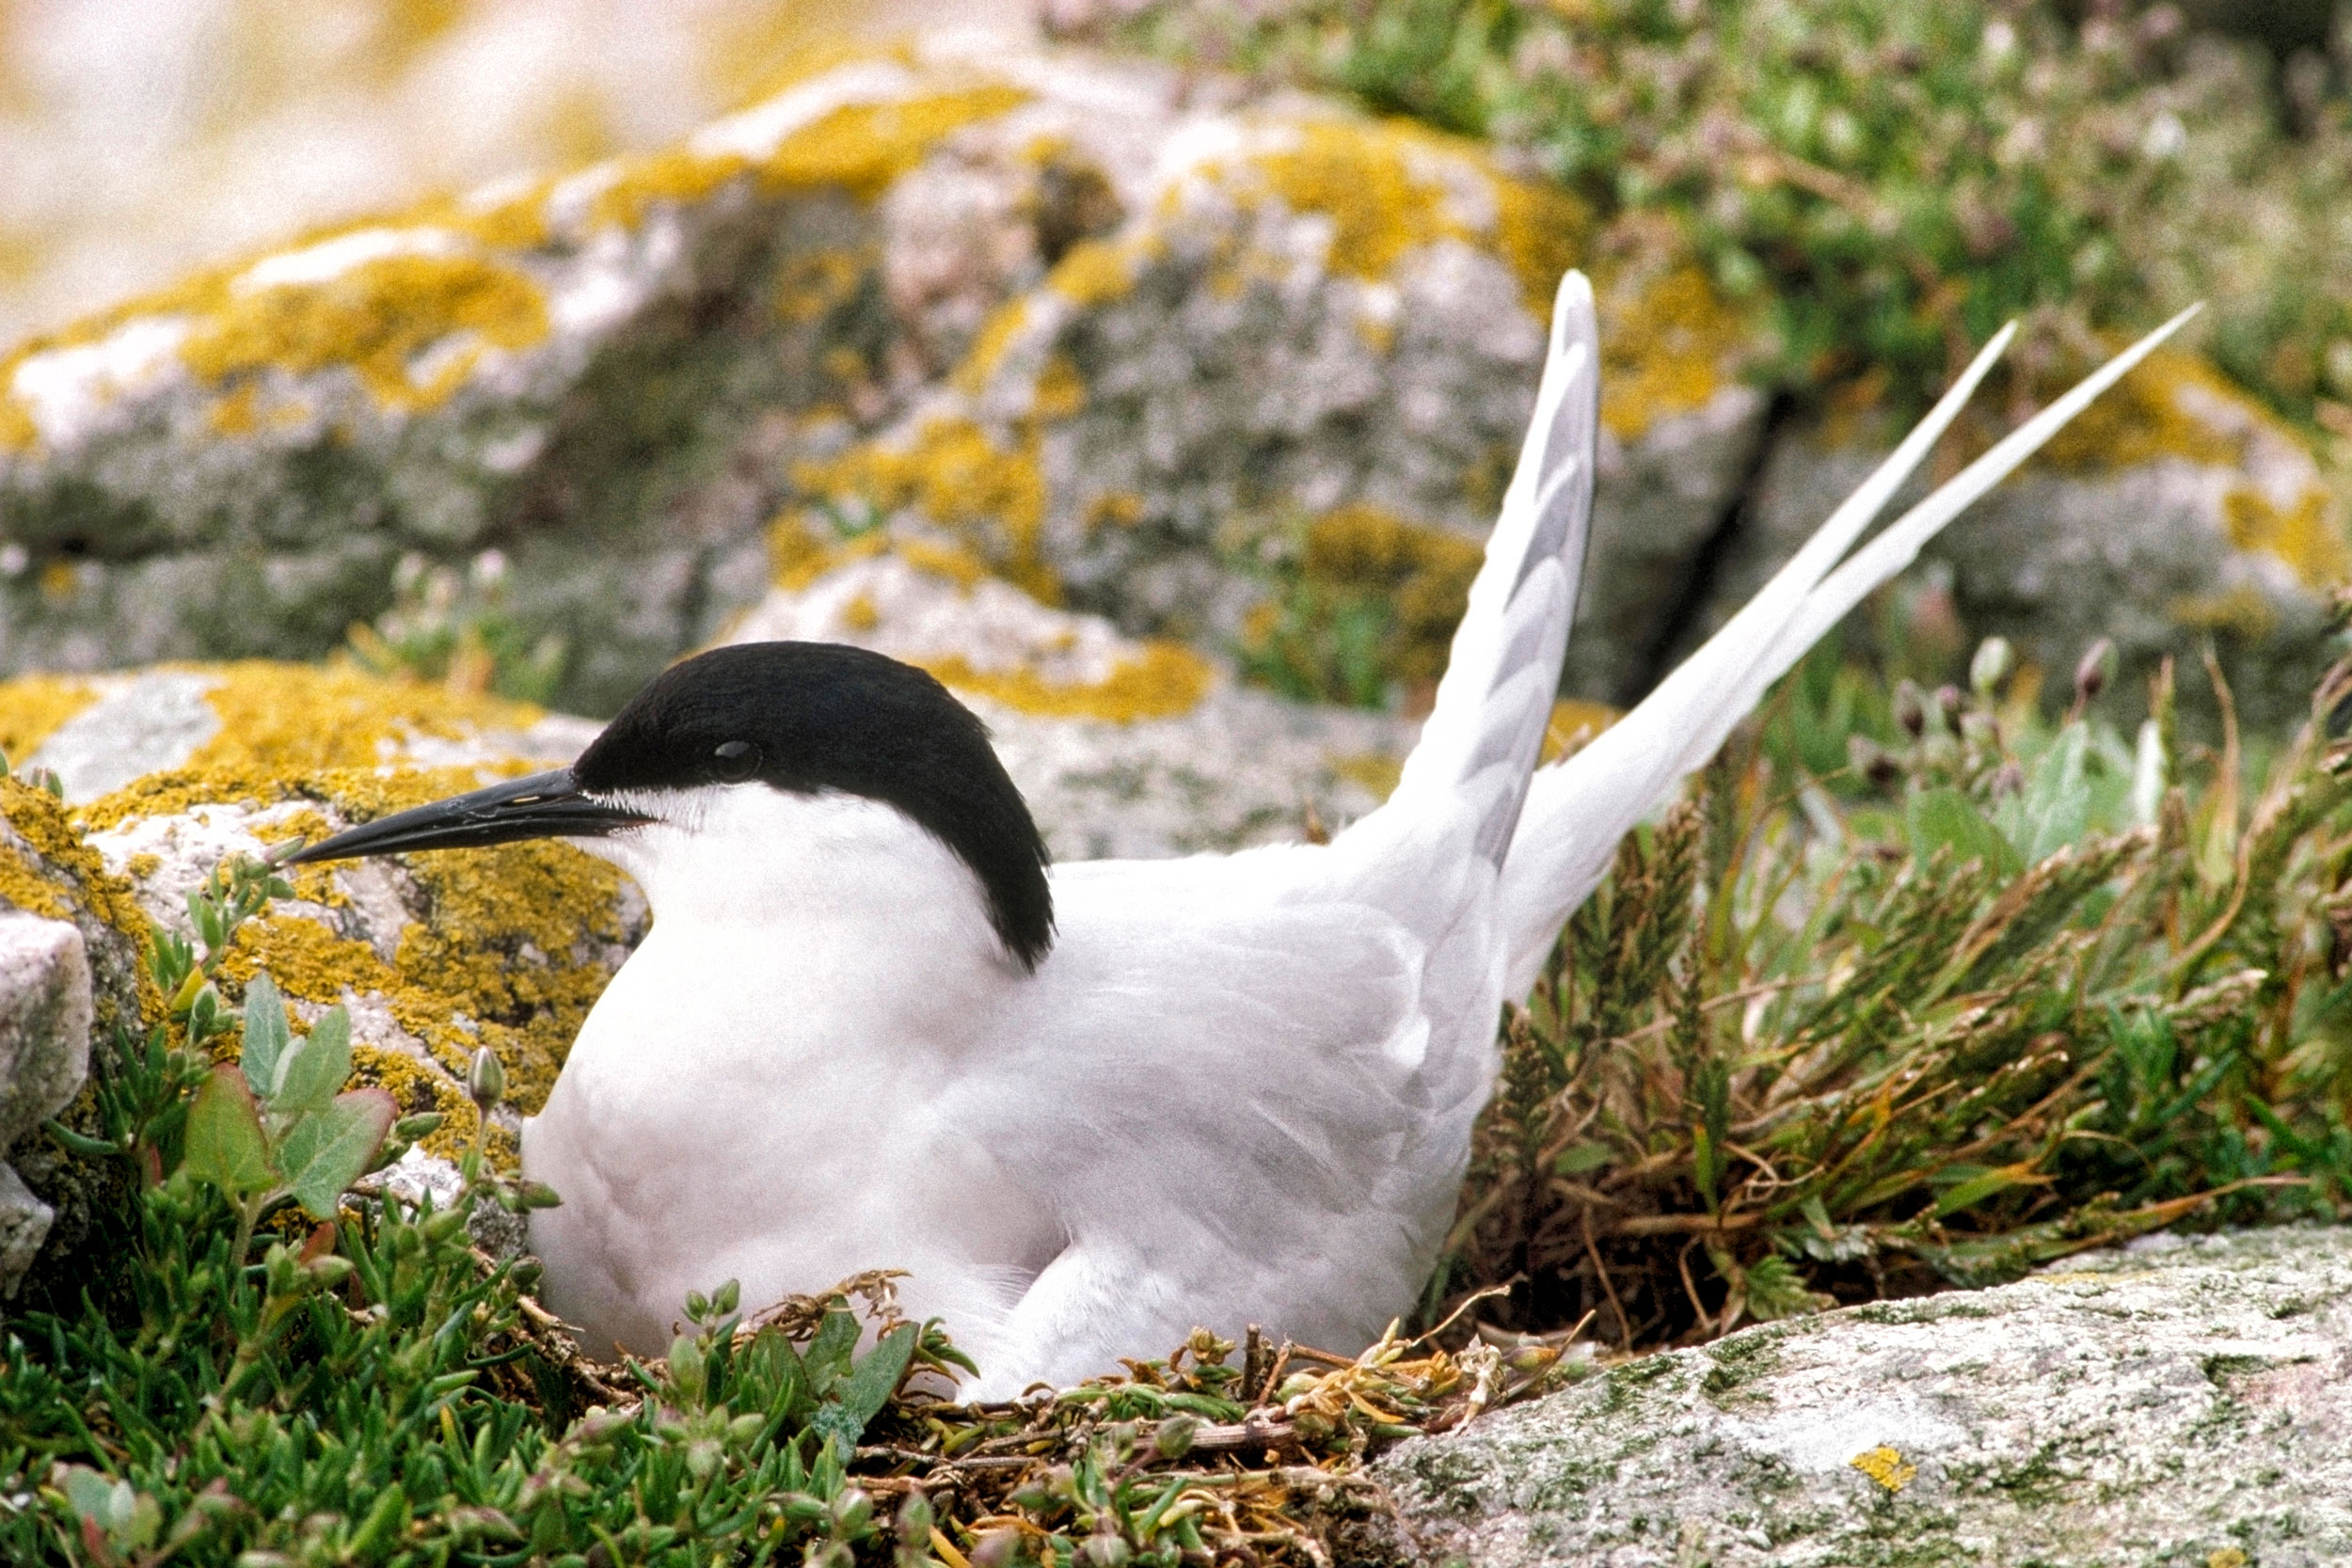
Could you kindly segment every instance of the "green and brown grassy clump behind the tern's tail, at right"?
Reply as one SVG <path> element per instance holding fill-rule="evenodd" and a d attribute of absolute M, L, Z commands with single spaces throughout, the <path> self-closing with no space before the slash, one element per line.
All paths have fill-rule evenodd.
<path fill-rule="evenodd" d="M 1644 1347 L 2345 1213 L 2352 661 L 2265 769 L 2227 689 L 2176 759 L 2169 668 L 2126 741 L 2105 649 L 2058 724 L 2013 663 L 1886 698 L 1818 656 L 1628 839 L 1510 1011 L 1432 1293 Z"/>

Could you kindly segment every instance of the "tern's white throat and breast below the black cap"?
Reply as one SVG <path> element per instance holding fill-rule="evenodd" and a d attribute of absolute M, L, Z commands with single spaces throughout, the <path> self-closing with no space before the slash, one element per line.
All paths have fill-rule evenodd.
<path fill-rule="evenodd" d="M 532 1244 L 595 1349 L 668 1345 L 687 1291 L 748 1305 L 906 1267 L 906 1305 L 988 1307 L 1061 1234 L 941 1105 L 1021 973 L 978 884 L 896 809 L 699 790 L 607 842 L 654 929 L 597 1001 L 524 1171 L 564 1197 Z"/>

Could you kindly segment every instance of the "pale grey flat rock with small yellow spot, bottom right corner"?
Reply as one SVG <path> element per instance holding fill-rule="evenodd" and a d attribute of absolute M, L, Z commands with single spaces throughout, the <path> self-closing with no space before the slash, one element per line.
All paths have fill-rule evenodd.
<path fill-rule="evenodd" d="M 1421 1561 L 2352 1561 L 2352 1232 L 1748 1328 L 1381 1460 Z"/>

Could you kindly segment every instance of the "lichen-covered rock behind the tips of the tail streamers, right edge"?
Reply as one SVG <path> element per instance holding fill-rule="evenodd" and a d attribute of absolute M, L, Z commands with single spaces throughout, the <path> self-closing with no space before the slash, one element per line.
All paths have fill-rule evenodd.
<path fill-rule="evenodd" d="M 1884 451 L 1856 421 L 1795 430 L 1766 461 L 1708 621 L 1853 491 Z M 1917 498 L 1915 484 L 1910 498 Z M 2129 689 L 2211 635 L 2239 710 L 2286 724 L 2310 701 L 2328 595 L 2352 548 L 2310 449 L 2201 360 L 2159 353 L 2013 480 L 1945 529 L 1929 559 L 1976 635 L 2063 677 L 2110 637 Z M 2201 691 L 2201 679 L 2187 682 Z"/>

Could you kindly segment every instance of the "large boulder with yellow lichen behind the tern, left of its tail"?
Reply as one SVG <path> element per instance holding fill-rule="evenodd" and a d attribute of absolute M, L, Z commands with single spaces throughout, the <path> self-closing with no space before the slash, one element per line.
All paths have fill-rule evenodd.
<path fill-rule="evenodd" d="M 757 602 L 779 510 L 844 508 L 1230 637 L 1284 529 L 1479 536 L 1585 240 L 1486 150 L 1310 101 L 946 45 L 849 63 L 16 350 L 0 670 L 315 656 L 400 555 L 496 538 L 515 616 L 569 632 L 557 701 L 609 712 Z M 1755 437 L 1743 334 L 1675 259 L 1602 282 L 1599 552 L 1670 578 Z M 1658 571 L 1595 583 L 1637 607 Z"/>

